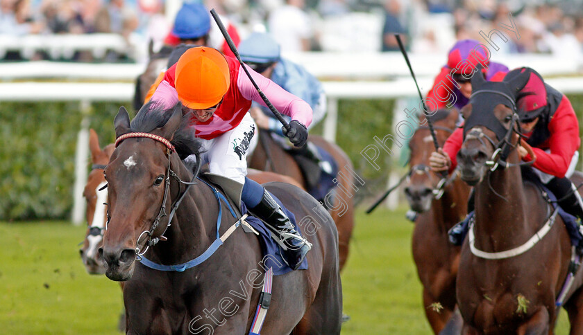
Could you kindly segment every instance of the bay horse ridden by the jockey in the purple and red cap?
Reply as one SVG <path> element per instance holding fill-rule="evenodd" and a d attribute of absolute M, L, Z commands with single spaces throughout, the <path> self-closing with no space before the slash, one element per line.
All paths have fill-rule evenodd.
<path fill-rule="evenodd" d="M 455 129 L 458 115 L 457 110 L 440 110 L 435 114 L 434 118 L 439 116 L 434 120 L 434 129 L 440 147 Z M 426 122 L 421 116 L 420 124 Z M 413 259 L 423 285 L 425 316 L 433 332 L 439 334 L 454 315 L 456 305 L 460 248 L 448 241 L 448 230 L 467 214 L 470 188 L 457 177 L 457 171 L 446 177 L 430 171 L 429 156 L 435 147 L 427 126 L 416 130 L 409 149 L 405 195 L 412 210 L 419 212 L 412 236 Z"/>

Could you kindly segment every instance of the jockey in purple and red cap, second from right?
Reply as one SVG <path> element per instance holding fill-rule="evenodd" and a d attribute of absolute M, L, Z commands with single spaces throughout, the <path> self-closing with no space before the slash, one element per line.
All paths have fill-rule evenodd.
<path fill-rule="evenodd" d="M 464 71 L 465 73 L 468 69 L 473 71 L 478 64 L 482 64 L 484 78 L 493 82 L 502 81 L 508 72 L 507 66 L 490 62 L 488 48 L 480 42 L 475 39 L 460 39 L 450 49 L 448 62 L 435 77 L 433 86 L 427 94 L 427 100 L 437 103 L 437 109 L 448 108 L 448 102 L 453 102 L 453 106 L 458 110 L 468 105 L 472 95 L 472 84 L 471 78 L 467 78 Z M 462 121 L 462 114 L 459 114 L 458 123 Z M 463 129 L 456 129 L 451 136 L 463 136 Z M 439 153 L 443 154 L 441 148 L 439 148 Z M 406 214 L 407 219 L 411 221 L 415 221 L 416 216 L 417 213 L 412 210 Z"/>

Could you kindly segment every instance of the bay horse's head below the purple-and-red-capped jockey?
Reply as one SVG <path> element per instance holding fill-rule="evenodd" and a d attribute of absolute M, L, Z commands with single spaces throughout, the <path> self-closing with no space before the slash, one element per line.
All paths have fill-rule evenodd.
<path fill-rule="evenodd" d="M 448 136 L 455 129 L 457 117 L 457 109 L 440 109 L 432 116 L 435 135 L 441 145 L 445 143 Z M 437 190 L 437 185 L 441 180 L 441 176 L 438 176 L 429 168 L 429 156 L 435 150 L 435 147 L 430 129 L 425 125 L 426 123 L 425 116 L 421 115 L 419 124 L 423 126 L 416 130 L 409 141 L 409 150 L 411 152 L 409 166 L 411 168 L 405 181 L 405 197 L 407 197 L 411 209 L 416 212 L 425 212 L 431 208 L 431 203 L 435 196 L 434 190 Z"/>

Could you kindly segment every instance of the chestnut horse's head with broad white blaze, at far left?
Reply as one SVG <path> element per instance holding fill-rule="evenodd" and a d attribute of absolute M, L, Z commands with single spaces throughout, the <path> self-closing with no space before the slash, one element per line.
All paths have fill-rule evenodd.
<path fill-rule="evenodd" d="M 113 144 L 110 144 L 101 150 L 99 147 L 99 138 L 93 129 L 90 129 L 89 147 L 91 151 L 92 170 L 87 176 L 87 183 L 83 190 L 83 197 L 87 202 L 87 235 L 83 241 L 83 247 L 79 249 L 83 264 L 87 273 L 92 275 L 103 275 L 105 266 L 103 259 L 99 257 L 97 248 L 101 246 L 103 239 L 103 228 L 105 228 L 105 202 L 108 199 L 107 189 L 101 189 L 105 186 L 105 177 L 103 169 L 107 165 L 113 152 Z"/>

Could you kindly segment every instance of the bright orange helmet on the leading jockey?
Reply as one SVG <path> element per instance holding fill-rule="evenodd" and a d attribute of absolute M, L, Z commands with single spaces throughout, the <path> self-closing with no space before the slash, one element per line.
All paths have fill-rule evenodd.
<path fill-rule="evenodd" d="M 174 86 L 178 99 L 188 108 L 207 109 L 217 105 L 229 84 L 229 65 L 217 49 L 190 48 L 176 63 Z"/>

